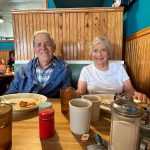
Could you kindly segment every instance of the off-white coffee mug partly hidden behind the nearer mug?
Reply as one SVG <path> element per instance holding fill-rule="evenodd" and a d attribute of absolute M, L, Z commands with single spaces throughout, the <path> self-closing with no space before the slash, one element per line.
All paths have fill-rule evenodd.
<path fill-rule="evenodd" d="M 100 97 L 96 95 L 83 95 L 82 98 L 92 102 L 91 122 L 97 122 L 100 117 Z"/>

